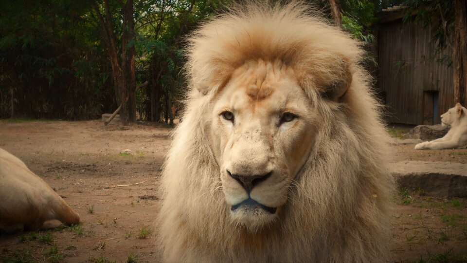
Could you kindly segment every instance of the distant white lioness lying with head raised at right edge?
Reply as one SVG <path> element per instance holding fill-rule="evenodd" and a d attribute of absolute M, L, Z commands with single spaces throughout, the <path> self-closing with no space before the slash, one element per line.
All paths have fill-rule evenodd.
<path fill-rule="evenodd" d="M 416 150 L 440 150 L 467 148 L 467 109 L 460 103 L 441 115 L 443 126 L 450 126 L 444 137 L 415 145 Z"/>

